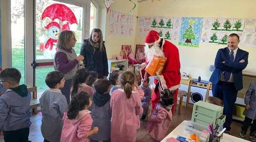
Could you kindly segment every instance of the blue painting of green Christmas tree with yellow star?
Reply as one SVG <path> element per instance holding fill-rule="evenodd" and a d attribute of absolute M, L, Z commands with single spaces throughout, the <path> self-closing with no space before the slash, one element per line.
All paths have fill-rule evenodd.
<path fill-rule="evenodd" d="M 202 29 L 202 18 L 182 17 L 180 46 L 198 47 Z"/>

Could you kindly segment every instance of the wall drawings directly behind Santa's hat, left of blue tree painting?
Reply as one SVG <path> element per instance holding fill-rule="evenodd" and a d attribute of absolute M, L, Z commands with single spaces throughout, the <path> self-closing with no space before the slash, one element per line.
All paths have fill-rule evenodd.
<path fill-rule="evenodd" d="M 137 37 L 146 37 L 150 30 L 156 30 L 164 39 L 171 39 L 173 17 L 138 17 Z"/>

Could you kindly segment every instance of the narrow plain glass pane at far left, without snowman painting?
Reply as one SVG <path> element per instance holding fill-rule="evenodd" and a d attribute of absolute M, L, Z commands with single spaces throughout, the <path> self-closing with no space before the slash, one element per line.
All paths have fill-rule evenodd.
<path fill-rule="evenodd" d="M 12 68 L 21 72 L 25 84 L 24 0 L 11 0 Z"/>

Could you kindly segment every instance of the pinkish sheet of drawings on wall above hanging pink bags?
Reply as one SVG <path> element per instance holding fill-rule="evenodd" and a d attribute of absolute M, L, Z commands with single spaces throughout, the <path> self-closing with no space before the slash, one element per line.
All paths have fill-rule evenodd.
<path fill-rule="evenodd" d="M 111 10 L 109 18 L 109 35 L 133 36 L 135 15 Z"/>

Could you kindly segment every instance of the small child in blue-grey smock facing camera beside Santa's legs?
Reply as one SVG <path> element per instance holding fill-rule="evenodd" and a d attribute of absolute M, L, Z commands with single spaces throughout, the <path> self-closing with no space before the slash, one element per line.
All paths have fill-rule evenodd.
<path fill-rule="evenodd" d="M 151 89 L 149 88 L 149 78 L 145 80 L 141 80 L 141 85 L 139 86 L 144 91 L 144 98 L 142 100 L 142 108 L 143 115 L 141 117 L 142 120 L 145 120 L 147 114 L 147 107 L 149 106 L 149 102 L 151 101 Z"/>

